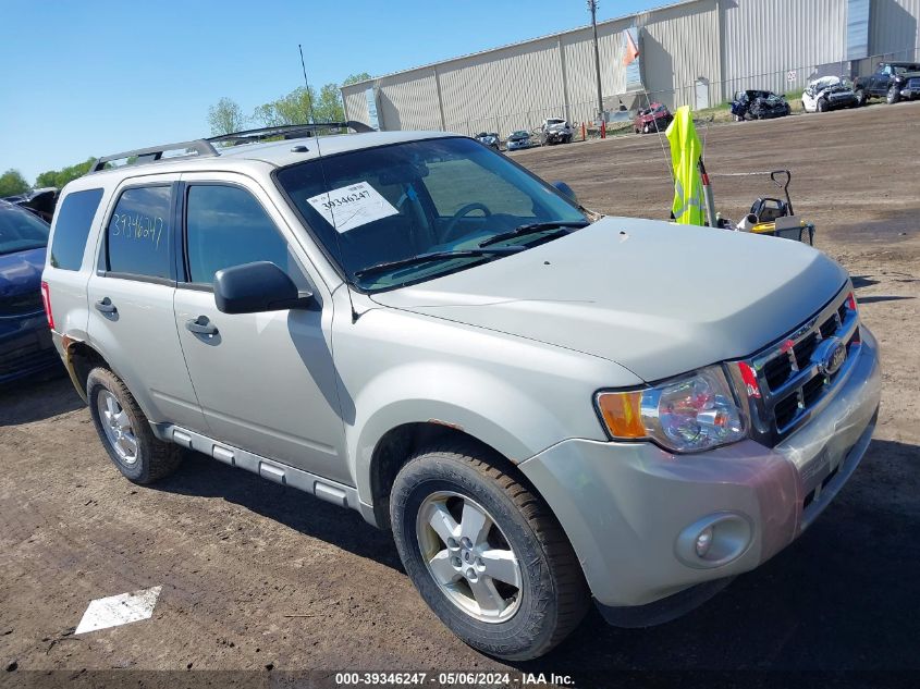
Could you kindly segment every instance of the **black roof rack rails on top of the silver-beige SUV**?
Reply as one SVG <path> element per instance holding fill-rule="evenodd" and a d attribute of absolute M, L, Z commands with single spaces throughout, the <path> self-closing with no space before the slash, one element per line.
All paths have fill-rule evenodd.
<path fill-rule="evenodd" d="M 149 148 L 137 148 L 135 150 L 126 150 L 121 153 L 112 156 L 102 156 L 98 158 L 90 167 L 89 173 L 99 172 L 106 169 L 106 164 L 113 160 L 125 160 L 127 158 L 136 158 L 131 164 L 140 164 L 148 162 L 156 162 L 163 160 L 163 153 L 168 151 L 184 151 L 185 155 L 195 155 L 198 157 L 219 156 L 220 152 L 214 148 L 214 144 L 230 144 L 238 146 L 241 144 L 253 144 L 256 142 L 265 142 L 268 139 L 292 139 L 303 138 L 306 136 L 316 136 L 316 133 L 322 130 L 354 130 L 359 134 L 367 132 L 375 132 L 376 130 L 368 126 L 364 122 L 356 122 L 348 120 L 346 122 L 315 122 L 312 124 L 285 124 L 281 126 L 260 127 L 257 130 L 245 130 L 242 132 L 234 132 L 232 134 L 221 134 L 220 136 L 211 136 L 209 138 L 199 138 L 194 142 L 179 142 L 176 144 L 162 144 L 160 146 L 151 146 Z M 182 156 L 170 157 L 181 158 Z"/>

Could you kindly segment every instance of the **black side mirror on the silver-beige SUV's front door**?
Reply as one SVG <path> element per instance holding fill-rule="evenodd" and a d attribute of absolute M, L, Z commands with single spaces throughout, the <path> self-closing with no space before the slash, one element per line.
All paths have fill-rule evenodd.
<path fill-rule="evenodd" d="M 260 313 L 308 308 L 312 293 L 298 292 L 274 263 L 256 261 L 214 273 L 214 303 L 223 313 Z"/>

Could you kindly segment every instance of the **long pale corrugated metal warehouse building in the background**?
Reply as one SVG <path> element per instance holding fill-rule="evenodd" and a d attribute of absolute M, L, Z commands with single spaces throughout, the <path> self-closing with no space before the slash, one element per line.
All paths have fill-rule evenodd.
<path fill-rule="evenodd" d="M 701 109 L 744 88 L 805 88 L 918 60 L 920 0 L 690 0 L 598 23 L 604 110 L 646 99 Z M 625 63 L 630 37 L 639 58 Z M 598 118 L 590 26 L 342 88 L 348 119 L 466 134 Z"/>

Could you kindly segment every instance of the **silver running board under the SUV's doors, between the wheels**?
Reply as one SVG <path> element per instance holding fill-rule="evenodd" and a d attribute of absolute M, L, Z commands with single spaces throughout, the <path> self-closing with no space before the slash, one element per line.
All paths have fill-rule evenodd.
<path fill-rule="evenodd" d="M 295 469 L 286 464 L 267 459 L 255 453 L 219 443 L 207 435 L 201 435 L 200 433 L 180 428 L 172 423 L 150 423 L 150 428 L 154 434 L 160 440 L 204 453 L 218 462 L 222 462 L 231 467 L 246 469 L 246 471 L 257 473 L 269 481 L 296 488 L 333 505 L 351 507 L 361 514 L 365 513 L 358 500 L 358 491 L 351 485 L 330 481 L 309 471 Z"/>

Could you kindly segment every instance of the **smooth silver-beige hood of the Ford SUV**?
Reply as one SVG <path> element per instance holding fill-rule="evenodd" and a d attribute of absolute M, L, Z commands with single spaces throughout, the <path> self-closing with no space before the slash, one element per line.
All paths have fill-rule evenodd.
<path fill-rule="evenodd" d="M 652 382 L 759 350 L 846 280 L 798 242 L 605 218 L 373 299 L 603 357 Z"/>

